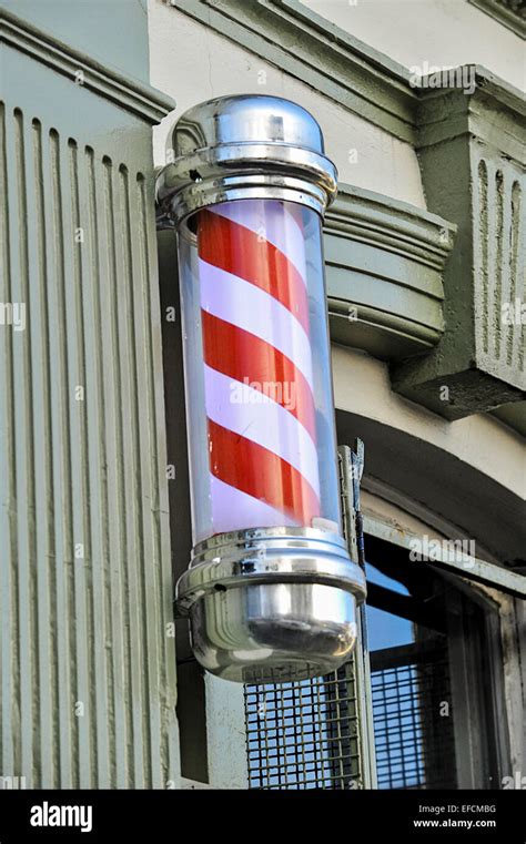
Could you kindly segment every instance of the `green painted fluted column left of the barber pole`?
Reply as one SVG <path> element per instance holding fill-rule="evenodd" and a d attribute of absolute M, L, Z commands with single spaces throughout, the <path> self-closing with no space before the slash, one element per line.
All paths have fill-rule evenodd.
<path fill-rule="evenodd" d="M 143 3 L 0 2 L 0 775 L 171 787 Z"/>

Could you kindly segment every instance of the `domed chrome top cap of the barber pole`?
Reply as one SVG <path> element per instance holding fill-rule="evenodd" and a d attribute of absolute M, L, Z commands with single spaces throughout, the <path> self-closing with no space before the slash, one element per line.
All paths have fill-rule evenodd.
<path fill-rule="evenodd" d="M 220 96 L 175 123 L 170 162 L 156 179 L 158 217 L 178 225 L 206 205 L 277 199 L 323 216 L 337 190 L 322 131 L 305 109 L 279 96 Z"/>

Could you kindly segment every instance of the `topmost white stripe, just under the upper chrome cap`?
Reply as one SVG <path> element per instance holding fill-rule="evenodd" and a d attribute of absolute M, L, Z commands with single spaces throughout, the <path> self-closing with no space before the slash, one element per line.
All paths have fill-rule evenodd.
<path fill-rule="evenodd" d="M 213 213 L 244 225 L 272 243 L 294 264 L 306 284 L 304 234 L 286 203 L 279 200 L 221 202 L 214 205 Z"/>

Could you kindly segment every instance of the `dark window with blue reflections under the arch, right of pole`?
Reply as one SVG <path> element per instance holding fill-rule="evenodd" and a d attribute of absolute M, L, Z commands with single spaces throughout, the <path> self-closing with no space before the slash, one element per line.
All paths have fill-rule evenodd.
<path fill-rule="evenodd" d="M 381 789 L 498 780 L 492 612 L 473 588 L 367 537 L 367 633 Z"/>

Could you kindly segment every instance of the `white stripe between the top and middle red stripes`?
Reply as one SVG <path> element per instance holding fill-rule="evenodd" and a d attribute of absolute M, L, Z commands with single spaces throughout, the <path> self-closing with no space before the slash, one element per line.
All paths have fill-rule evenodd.
<path fill-rule="evenodd" d="M 313 387 L 311 344 L 303 327 L 277 299 L 250 282 L 199 260 L 201 307 L 274 346 Z"/>

